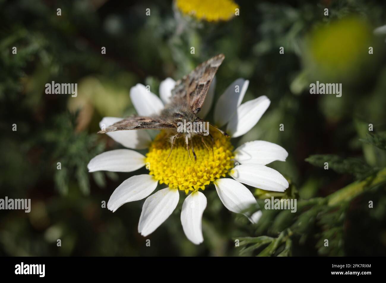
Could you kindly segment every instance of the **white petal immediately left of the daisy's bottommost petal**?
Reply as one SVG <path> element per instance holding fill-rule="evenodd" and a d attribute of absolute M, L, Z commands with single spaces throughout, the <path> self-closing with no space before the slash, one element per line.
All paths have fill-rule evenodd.
<path fill-rule="evenodd" d="M 178 204 L 178 189 L 162 189 L 146 199 L 139 217 L 138 232 L 147 236 L 154 232 Z"/>

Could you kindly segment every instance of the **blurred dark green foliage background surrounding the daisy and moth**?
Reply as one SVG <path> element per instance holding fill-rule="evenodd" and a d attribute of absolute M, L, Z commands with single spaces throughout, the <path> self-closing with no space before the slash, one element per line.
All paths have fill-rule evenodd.
<path fill-rule="evenodd" d="M 260 95 L 271 99 L 266 114 L 235 146 L 256 139 L 283 146 L 287 161 L 272 167 L 291 181 L 300 199 L 325 197 L 355 181 L 351 174 L 305 162 L 312 154 L 386 166 L 384 151 L 359 141 L 369 124 L 374 132 L 386 130 L 386 34 L 373 32 L 386 25 L 386 3 L 236 2 L 239 16 L 208 22 L 185 15 L 172 1 L 0 0 L 0 198 L 30 198 L 32 205 L 30 213 L 0 211 L 0 255 L 237 256 L 235 237 L 270 234 L 230 213 L 209 188 L 203 244 L 186 239 L 179 205 L 147 237 L 147 247 L 137 233 L 143 201 L 115 213 L 101 208 L 122 181 L 146 169 L 87 172 L 96 154 L 120 148 L 96 132 L 102 117 L 135 113 L 130 87 L 150 85 L 158 94 L 163 79 L 177 80 L 219 53 L 225 61 L 217 73 L 215 100 L 239 77 L 250 80 L 244 101 Z M 77 83 L 78 96 L 46 94 L 45 84 L 52 80 Z M 316 80 L 342 83 L 342 97 L 310 94 Z M 255 193 L 259 198 L 259 190 Z M 370 210 L 369 199 L 376 201 Z M 321 253 L 323 225 L 311 226 L 306 241 L 294 241 L 292 254 L 385 255 L 384 186 L 344 208 L 339 238 L 344 244 Z"/>

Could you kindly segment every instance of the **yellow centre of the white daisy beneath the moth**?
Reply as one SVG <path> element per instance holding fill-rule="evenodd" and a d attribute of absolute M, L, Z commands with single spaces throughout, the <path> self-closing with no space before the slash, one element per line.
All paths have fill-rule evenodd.
<path fill-rule="evenodd" d="M 229 138 L 213 127 L 210 127 L 210 133 L 213 136 L 213 155 L 210 136 L 203 137 L 209 149 L 201 141 L 201 136 L 193 137 L 197 156 L 195 161 L 191 144 L 189 158 L 183 137 L 174 141 L 173 151 L 168 158 L 171 148 L 170 136 L 162 131 L 151 143 L 146 154 L 146 168 L 150 170 L 149 174 L 154 175 L 160 184 L 184 190 L 185 193 L 204 190 L 211 182 L 225 177 L 233 167 L 233 146 Z"/>

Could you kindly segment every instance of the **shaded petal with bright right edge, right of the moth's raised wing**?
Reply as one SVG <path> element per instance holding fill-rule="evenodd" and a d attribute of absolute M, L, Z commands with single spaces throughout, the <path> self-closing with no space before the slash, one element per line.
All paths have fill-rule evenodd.
<path fill-rule="evenodd" d="M 214 113 L 216 126 L 222 127 L 230 121 L 232 114 L 236 112 L 237 107 L 241 104 L 248 85 L 249 80 L 237 79 L 220 96 Z M 238 86 L 239 92 L 236 92 L 236 86 Z"/>

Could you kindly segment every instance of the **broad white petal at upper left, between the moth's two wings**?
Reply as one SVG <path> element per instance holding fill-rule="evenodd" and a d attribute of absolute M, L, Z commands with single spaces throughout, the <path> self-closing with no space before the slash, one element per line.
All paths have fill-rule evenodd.
<path fill-rule="evenodd" d="M 159 114 L 164 105 L 157 95 L 148 92 L 142 84 L 137 84 L 130 89 L 130 99 L 139 116 Z"/>

